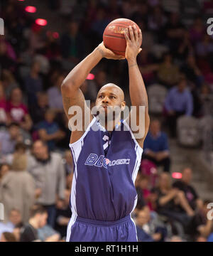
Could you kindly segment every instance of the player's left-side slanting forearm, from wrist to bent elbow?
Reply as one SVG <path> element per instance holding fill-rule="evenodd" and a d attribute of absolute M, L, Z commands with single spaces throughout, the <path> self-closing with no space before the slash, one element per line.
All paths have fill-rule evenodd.
<path fill-rule="evenodd" d="M 80 88 L 84 80 L 86 80 L 89 72 L 94 66 L 102 60 L 102 52 L 99 48 L 95 48 L 84 60 L 82 60 L 71 72 L 67 75 L 62 82 L 62 89 L 77 90 Z"/>

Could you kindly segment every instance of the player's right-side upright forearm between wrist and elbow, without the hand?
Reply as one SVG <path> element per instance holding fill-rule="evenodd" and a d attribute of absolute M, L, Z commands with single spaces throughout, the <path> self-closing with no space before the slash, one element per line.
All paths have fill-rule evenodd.
<path fill-rule="evenodd" d="M 129 65 L 129 93 L 131 105 L 145 106 L 148 110 L 148 97 L 141 72 L 136 59 L 128 60 Z"/>

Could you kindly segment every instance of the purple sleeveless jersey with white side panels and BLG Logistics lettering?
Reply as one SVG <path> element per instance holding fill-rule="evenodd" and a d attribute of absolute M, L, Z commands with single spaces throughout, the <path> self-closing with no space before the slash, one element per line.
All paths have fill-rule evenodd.
<path fill-rule="evenodd" d="M 71 232 L 77 216 L 114 221 L 130 215 L 137 203 L 134 183 L 143 149 L 128 124 L 122 121 L 109 133 L 94 117 L 70 149 L 75 168 L 70 197 L 72 218 L 67 232 Z"/>

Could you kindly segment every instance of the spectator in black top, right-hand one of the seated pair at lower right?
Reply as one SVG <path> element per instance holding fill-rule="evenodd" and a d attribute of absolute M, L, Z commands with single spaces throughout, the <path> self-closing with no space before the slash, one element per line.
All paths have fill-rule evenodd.
<path fill-rule="evenodd" d="M 187 198 L 187 201 L 192 210 L 197 210 L 201 208 L 202 201 L 198 197 L 195 188 L 193 188 L 193 186 L 190 185 L 191 181 L 192 169 L 185 168 L 182 170 L 181 180 L 175 181 L 175 183 L 173 183 L 173 188 L 178 188 L 180 191 L 183 191 L 185 193 L 185 198 Z"/>

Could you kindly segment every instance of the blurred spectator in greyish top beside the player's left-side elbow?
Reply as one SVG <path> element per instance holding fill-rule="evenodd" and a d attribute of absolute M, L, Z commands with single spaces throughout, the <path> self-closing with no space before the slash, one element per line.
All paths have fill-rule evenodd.
<path fill-rule="evenodd" d="M 48 89 L 48 105 L 56 113 L 64 112 L 60 87 L 65 76 L 60 74 L 55 80 L 55 85 Z"/>

